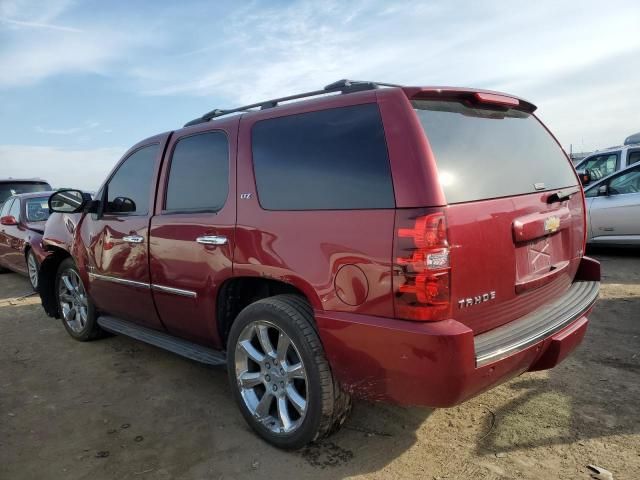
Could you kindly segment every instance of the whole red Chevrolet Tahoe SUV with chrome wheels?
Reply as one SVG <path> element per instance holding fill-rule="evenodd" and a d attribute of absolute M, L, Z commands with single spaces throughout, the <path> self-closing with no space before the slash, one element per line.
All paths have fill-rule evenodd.
<path fill-rule="evenodd" d="M 571 162 L 522 99 L 339 81 L 132 147 L 50 199 L 47 313 L 226 364 L 283 448 L 351 398 L 446 407 L 582 340 L 599 290 Z"/>

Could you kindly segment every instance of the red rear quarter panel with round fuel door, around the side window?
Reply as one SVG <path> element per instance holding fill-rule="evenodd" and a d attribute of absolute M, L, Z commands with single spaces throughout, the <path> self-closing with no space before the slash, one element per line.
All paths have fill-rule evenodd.
<path fill-rule="evenodd" d="M 317 310 L 393 316 L 390 260 L 394 210 L 264 210 L 257 196 L 251 152 L 251 128 L 258 120 L 375 101 L 375 92 L 363 92 L 242 117 L 234 276 L 289 283 Z M 338 276 L 346 265 L 352 267 Z M 349 302 L 350 296 L 357 297 L 359 300 L 351 303 L 359 303 L 346 303 L 338 292 Z"/>

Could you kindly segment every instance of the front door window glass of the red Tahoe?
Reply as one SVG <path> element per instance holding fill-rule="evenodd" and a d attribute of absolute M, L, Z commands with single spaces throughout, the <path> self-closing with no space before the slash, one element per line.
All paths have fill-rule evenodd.
<path fill-rule="evenodd" d="M 149 197 L 158 148 L 159 145 L 154 144 L 136 150 L 118 167 L 107 185 L 105 213 L 149 213 Z"/>

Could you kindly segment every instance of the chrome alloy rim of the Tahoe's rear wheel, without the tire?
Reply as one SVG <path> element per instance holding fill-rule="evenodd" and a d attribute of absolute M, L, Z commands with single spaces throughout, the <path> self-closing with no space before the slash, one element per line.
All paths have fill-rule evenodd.
<path fill-rule="evenodd" d="M 236 343 L 240 395 L 253 417 L 277 434 L 295 431 L 307 412 L 307 372 L 295 345 L 266 321 L 248 324 Z"/>

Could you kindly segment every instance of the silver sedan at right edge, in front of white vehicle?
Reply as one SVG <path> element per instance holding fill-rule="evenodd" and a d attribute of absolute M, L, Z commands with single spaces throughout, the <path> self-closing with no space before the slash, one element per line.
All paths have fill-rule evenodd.
<path fill-rule="evenodd" d="M 640 246 L 640 162 L 585 187 L 587 243 Z"/>

